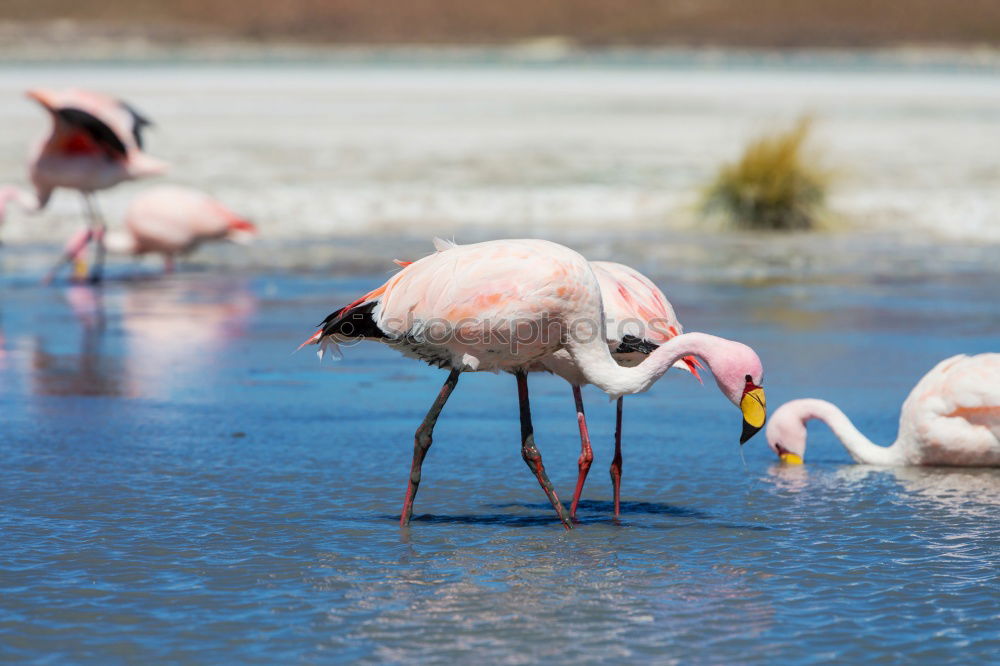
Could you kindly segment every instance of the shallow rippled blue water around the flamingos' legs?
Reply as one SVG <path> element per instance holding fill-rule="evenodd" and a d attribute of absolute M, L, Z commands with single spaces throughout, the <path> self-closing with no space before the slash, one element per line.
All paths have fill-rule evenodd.
<path fill-rule="evenodd" d="M 400 530 L 412 433 L 444 373 L 377 345 L 292 354 L 380 277 L 181 275 L 0 284 L 0 657 L 12 661 L 973 663 L 1000 650 L 1000 471 L 804 467 L 709 379 L 613 405 L 565 532 L 520 459 L 514 381 L 466 375 Z M 668 289 L 689 330 L 764 360 L 876 441 L 917 379 L 996 351 L 995 276 Z M 563 499 L 567 386 L 532 377 Z"/>

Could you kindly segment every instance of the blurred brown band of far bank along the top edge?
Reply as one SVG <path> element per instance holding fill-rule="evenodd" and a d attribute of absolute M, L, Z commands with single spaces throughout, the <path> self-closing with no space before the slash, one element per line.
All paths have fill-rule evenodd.
<path fill-rule="evenodd" d="M 1000 45 L 997 0 L 5 0 L 0 21 L 315 44 L 869 48 Z"/>

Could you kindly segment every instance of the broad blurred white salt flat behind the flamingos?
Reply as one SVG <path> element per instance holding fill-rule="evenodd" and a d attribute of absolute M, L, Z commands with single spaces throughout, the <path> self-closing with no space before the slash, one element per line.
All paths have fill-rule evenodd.
<path fill-rule="evenodd" d="M 172 165 L 157 182 L 211 192 L 258 223 L 263 247 L 297 252 L 293 265 L 311 251 L 297 248 L 305 239 L 440 234 L 601 238 L 643 251 L 654 238 L 681 243 L 681 259 L 695 257 L 692 265 L 706 248 L 706 266 L 719 256 L 708 257 L 708 248 L 745 247 L 778 273 L 864 272 L 862 264 L 877 263 L 870 244 L 879 253 L 916 248 L 898 250 L 906 259 L 891 265 L 918 272 L 937 270 L 922 264 L 938 255 L 942 265 L 993 268 L 975 248 L 1000 245 L 994 73 L 864 58 L 850 67 L 733 58 L 718 66 L 621 58 L 551 67 L 8 62 L 0 66 L 0 184 L 26 184 L 24 156 L 47 124 L 23 91 L 76 85 L 119 95 L 151 116 L 148 150 Z M 793 241 L 725 240 L 697 214 L 704 186 L 749 138 L 803 113 L 816 120 L 815 159 L 835 173 L 835 230 Z M 101 193 L 112 224 L 149 184 Z M 59 192 L 40 215 L 12 211 L 0 237 L 8 247 L 57 244 L 80 223 L 79 211 L 77 196 Z M 831 248 L 845 256 L 826 261 Z M 757 264 L 735 268 L 742 264 L 733 256 L 734 275 L 760 272 Z"/>

